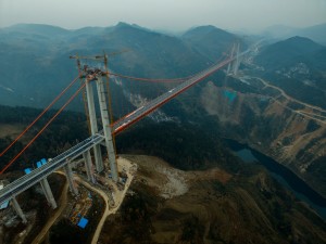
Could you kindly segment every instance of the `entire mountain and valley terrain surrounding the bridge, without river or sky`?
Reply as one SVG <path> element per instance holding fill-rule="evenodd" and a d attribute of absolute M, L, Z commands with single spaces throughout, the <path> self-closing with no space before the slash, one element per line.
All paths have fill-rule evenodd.
<path fill-rule="evenodd" d="M 193 75 L 225 59 L 235 41 L 244 49 L 258 37 L 250 40 L 214 26 L 170 36 L 125 23 L 76 30 L 45 25 L 0 29 L 0 43 L 4 47 L 0 50 L 0 103 L 10 105 L 0 105 L 0 150 L 40 113 L 32 107 L 45 107 L 66 80 L 77 75 L 68 60 L 71 54 L 129 49 L 110 57 L 110 70 L 136 77 L 175 78 Z M 121 201 L 114 209 L 110 206 L 112 198 L 105 197 L 108 192 L 97 191 L 75 177 L 85 195 L 87 191 L 95 193 L 89 211 L 93 221 L 86 232 L 70 222 L 71 213 L 64 213 L 65 204 L 78 201 L 66 194 L 64 177 L 55 174 L 51 184 L 55 185 L 55 197 L 61 195 L 62 201 L 52 219 L 49 214 L 54 211 L 49 206 L 39 209 L 40 204 L 45 205 L 42 201 L 23 205 L 32 213 L 35 232 L 45 228 L 35 243 L 75 236 L 78 243 L 96 243 L 97 239 L 99 243 L 325 243 L 325 220 L 266 169 L 243 164 L 223 142 L 231 139 L 272 157 L 326 198 L 325 50 L 301 37 L 263 43 L 241 63 L 238 74 L 217 72 L 118 134 L 117 153 L 136 164 L 138 170 L 134 179 L 128 177 L 129 189 L 121 195 L 115 192 Z M 174 89 L 171 84 L 152 86 L 117 77 L 109 80 L 115 120 L 140 108 L 158 93 Z M 23 176 L 24 168 L 35 167 L 38 158 L 53 157 L 87 138 L 87 118 L 79 113 L 82 104 L 80 95 L 68 107 L 77 112 L 60 115 L 0 179 L 12 181 Z M 1 167 L 54 113 L 50 111 L 1 157 Z M 41 195 L 39 192 L 30 189 L 20 202 Z M 84 206 L 82 202 L 78 204 Z M 4 228 L 4 233 L 0 229 L 0 243 L 1 235 L 12 243 L 16 241 L 13 234 L 23 233 L 23 226 L 17 223 L 14 228 Z M 25 243 L 35 236 L 28 235 Z"/>

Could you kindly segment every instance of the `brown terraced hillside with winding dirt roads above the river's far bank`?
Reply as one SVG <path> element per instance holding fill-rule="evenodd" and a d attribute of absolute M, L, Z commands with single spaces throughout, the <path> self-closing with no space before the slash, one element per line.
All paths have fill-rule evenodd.
<path fill-rule="evenodd" d="M 220 131 L 225 138 L 248 144 L 273 157 L 306 180 L 325 197 L 324 184 L 319 183 L 324 177 L 316 177 L 312 171 L 312 168 L 317 167 L 314 164 L 319 164 L 326 153 L 325 111 L 297 101 L 262 79 L 249 78 L 248 82 L 251 80 L 260 92 L 243 93 L 238 89 L 218 88 L 209 82 L 201 94 L 203 107 L 218 118 L 222 127 Z M 266 87 L 277 92 L 271 89 L 266 92 Z M 225 95 L 226 91 L 233 92 L 236 99 L 230 101 Z M 223 104 L 227 104 L 227 107 Z M 313 144 L 310 143 L 312 141 Z"/>

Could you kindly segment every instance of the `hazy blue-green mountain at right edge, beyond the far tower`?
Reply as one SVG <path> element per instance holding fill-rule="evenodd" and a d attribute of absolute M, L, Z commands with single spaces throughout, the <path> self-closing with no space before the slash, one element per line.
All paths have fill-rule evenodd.
<path fill-rule="evenodd" d="M 326 108 L 326 48 L 311 39 L 292 37 L 263 47 L 255 63 L 260 75 L 287 94 Z"/>

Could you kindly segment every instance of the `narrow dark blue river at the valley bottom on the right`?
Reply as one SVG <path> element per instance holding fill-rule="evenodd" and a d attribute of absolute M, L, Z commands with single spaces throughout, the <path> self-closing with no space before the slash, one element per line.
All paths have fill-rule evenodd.
<path fill-rule="evenodd" d="M 263 165 L 274 179 L 290 190 L 297 198 L 310 205 L 311 208 L 326 220 L 326 198 L 314 191 L 290 169 L 248 145 L 243 145 L 234 140 L 225 140 L 225 143 L 244 163 L 259 163 Z"/>

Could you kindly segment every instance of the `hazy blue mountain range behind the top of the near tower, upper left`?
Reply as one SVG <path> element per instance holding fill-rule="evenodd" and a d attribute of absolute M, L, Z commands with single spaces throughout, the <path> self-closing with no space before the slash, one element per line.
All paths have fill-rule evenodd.
<path fill-rule="evenodd" d="M 125 23 L 77 30 L 24 24 L 0 31 L 0 104 L 5 105 L 49 104 L 77 75 L 75 62 L 68 59 L 76 53 L 95 55 L 128 49 L 112 57 L 110 69 L 138 77 L 184 77 L 211 64 L 177 37 Z M 78 104 L 80 101 L 73 106 Z"/>

